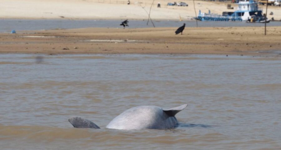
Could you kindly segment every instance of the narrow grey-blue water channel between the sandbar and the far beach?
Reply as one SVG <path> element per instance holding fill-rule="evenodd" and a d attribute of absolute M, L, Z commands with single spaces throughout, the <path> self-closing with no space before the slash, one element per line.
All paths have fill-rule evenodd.
<path fill-rule="evenodd" d="M 124 20 L 63 20 L 63 19 L 0 19 L 0 32 L 11 32 L 11 30 L 50 30 L 70 29 L 84 27 L 110 27 L 123 28 L 120 23 Z M 180 27 L 186 23 L 186 27 L 196 27 L 196 21 L 173 21 L 154 20 L 155 27 Z M 129 27 L 153 27 L 147 20 L 129 20 Z M 267 26 L 281 26 L 281 22 L 269 22 Z M 246 23 L 232 21 L 198 21 L 198 27 L 264 27 L 264 23 Z"/>

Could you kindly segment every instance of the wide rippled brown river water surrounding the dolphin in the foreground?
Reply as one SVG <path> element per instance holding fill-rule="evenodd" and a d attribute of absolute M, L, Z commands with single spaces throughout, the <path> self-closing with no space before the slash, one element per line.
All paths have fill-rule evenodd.
<path fill-rule="evenodd" d="M 280 75 L 274 57 L 1 54 L 0 147 L 281 149 Z M 105 128 L 131 107 L 182 104 L 177 128 Z"/>

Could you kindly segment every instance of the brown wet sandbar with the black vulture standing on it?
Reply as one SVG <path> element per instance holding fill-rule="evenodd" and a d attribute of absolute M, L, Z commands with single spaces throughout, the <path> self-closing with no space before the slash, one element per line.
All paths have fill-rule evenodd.
<path fill-rule="evenodd" d="M 0 34 L 0 53 L 235 54 L 280 56 L 281 27 L 80 28 Z M 258 53 L 264 52 L 264 53 Z M 281 52 L 280 52 L 281 53 Z M 271 54 L 271 53 L 270 53 Z"/>

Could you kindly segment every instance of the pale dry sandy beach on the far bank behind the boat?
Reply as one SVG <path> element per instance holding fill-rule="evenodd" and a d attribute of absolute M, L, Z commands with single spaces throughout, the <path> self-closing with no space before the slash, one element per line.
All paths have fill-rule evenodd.
<path fill-rule="evenodd" d="M 0 18 L 27 19 L 147 19 L 151 0 L 1 0 Z M 161 8 L 157 8 L 160 2 Z M 167 6 L 171 0 L 156 0 L 151 8 L 150 17 L 161 20 L 190 20 L 195 17 L 194 5 L 191 0 L 182 0 L 188 7 Z M 175 1 L 179 2 L 179 1 Z M 195 1 L 196 13 L 201 12 L 222 14 L 231 4 L 229 2 Z M 265 6 L 259 5 L 265 13 Z M 268 18 L 281 19 L 281 8 L 269 6 L 268 12 L 273 12 Z"/>

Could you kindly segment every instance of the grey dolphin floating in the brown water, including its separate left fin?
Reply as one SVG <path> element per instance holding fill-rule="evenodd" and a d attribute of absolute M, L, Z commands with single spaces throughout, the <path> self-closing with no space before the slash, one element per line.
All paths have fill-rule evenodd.
<path fill-rule="evenodd" d="M 119 130 L 168 129 L 178 123 L 175 115 L 187 104 L 171 109 L 158 106 L 137 106 L 126 110 L 114 118 L 106 128 Z M 95 123 L 81 117 L 71 117 L 68 121 L 75 128 L 100 128 Z"/>

